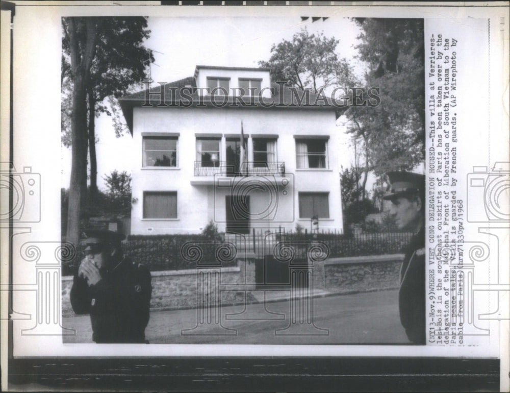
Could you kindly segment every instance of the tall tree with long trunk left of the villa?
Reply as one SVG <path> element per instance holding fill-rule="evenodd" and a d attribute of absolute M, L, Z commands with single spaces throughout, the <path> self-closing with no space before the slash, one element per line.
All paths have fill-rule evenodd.
<path fill-rule="evenodd" d="M 68 17 L 62 19 L 62 28 L 62 85 L 68 86 L 71 96 L 67 111 L 72 158 L 66 238 L 76 244 L 89 147 L 91 165 L 95 165 L 94 118 L 106 110 L 100 102 L 108 95 L 122 94 L 131 82 L 143 79 L 145 64 L 154 59 L 143 46 L 150 34 L 146 18 Z M 94 168 L 91 175 L 95 173 Z"/>

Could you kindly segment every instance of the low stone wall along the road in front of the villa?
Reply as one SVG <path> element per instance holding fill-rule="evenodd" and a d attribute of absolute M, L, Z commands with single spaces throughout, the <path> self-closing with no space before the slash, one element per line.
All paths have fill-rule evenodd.
<path fill-rule="evenodd" d="M 370 291 L 398 288 L 403 255 L 331 258 L 314 264 L 314 287 L 330 293 Z M 247 284 L 245 291 L 221 290 L 223 305 L 254 301 L 250 289 L 255 289 L 253 259 L 238 261 L 236 267 L 220 269 L 221 285 Z M 213 272 L 211 269 L 209 272 Z M 197 269 L 152 272 L 151 309 L 194 308 L 197 304 Z M 62 278 L 62 313 L 73 315 L 69 292 L 72 277 Z M 252 287 L 251 287 L 252 286 Z M 216 288 L 209 286 L 205 296 Z"/>

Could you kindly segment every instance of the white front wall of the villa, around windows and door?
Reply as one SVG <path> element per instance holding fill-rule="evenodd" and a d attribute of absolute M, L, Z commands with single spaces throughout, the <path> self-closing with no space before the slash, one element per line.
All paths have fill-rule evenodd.
<path fill-rule="evenodd" d="M 299 191 L 329 192 L 329 219 L 320 220 L 321 229 L 342 230 L 340 196 L 340 149 L 335 113 L 311 109 L 260 108 L 135 108 L 133 140 L 133 198 L 138 202 L 132 210 L 132 234 L 199 233 L 210 219 L 224 219 L 224 195 L 227 190 L 216 190 L 212 185 L 191 185 L 194 178 L 195 133 L 240 134 L 241 120 L 244 133 L 249 134 L 248 157 L 252 157 L 252 134 L 277 134 L 277 161 L 284 161 L 288 190 L 284 195 L 279 187 L 278 207 L 274 220 L 252 222 L 252 227 L 294 230 L 296 223 L 310 228 L 310 219 L 299 219 Z M 142 132 L 180 133 L 177 168 L 142 168 Z M 296 169 L 294 135 L 329 135 L 327 169 Z M 225 138 L 222 138 L 224 154 Z M 224 161 L 225 157 L 220 160 Z M 256 179 L 256 178 L 255 178 Z M 276 177 L 278 180 L 279 177 Z M 143 191 L 177 191 L 177 219 L 143 219 Z M 216 198 L 215 198 L 216 194 Z M 263 199 L 250 198 L 251 210 L 264 210 Z M 292 207 L 292 208 L 291 208 Z M 266 217 L 267 218 L 267 217 Z M 220 231 L 224 224 L 218 222 Z M 150 230 L 149 230 L 150 228 Z"/>

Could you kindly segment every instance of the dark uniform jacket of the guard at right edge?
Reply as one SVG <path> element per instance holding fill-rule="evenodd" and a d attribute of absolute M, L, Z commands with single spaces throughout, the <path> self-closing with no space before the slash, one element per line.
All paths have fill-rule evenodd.
<path fill-rule="evenodd" d="M 407 337 L 425 344 L 425 228 L 411 239 L 400 270 L 400 322 Z"/>

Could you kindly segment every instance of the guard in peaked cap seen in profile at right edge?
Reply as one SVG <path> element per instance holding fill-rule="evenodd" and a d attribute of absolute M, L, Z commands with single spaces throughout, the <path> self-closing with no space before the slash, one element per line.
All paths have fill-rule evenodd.
<path fill-rule="evenodd" d="M 425 176 L 411 172 L 388 173 L 383 199 L 392 202 L 390 214 L 400 230 L 414 232 L 400 269 L 398 305 L 407 337 L 425 344 Z"/>

